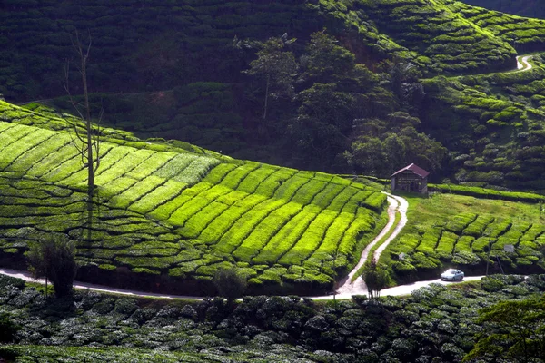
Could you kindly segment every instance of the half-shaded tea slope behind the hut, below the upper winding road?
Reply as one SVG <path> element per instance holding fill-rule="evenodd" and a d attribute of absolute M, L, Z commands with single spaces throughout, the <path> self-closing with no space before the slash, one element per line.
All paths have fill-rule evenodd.
<path fill-rule="evenodd" d="M 533 68 L 521 73 L 423 81 L 430 97 L 424 123 L 438 141 L 456 149 L 450 167 L 458 182 L 519 190 L 545 187 L 541 177 L 545 117 L 542 55 L 533 55 L 530 64 Z"/>

